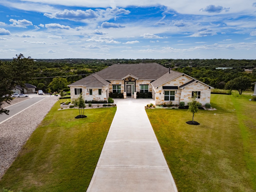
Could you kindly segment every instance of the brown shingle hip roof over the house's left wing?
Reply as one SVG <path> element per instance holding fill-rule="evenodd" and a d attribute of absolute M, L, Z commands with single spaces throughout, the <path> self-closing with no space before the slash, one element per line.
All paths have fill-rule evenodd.
<path fill-rule="evenodd" d="M 83 79 L 80 79 L 68 86 L 86 86 L 87 88 L 100 88 L 102 86 L 107 86 L 108 81 L 105 81 L 98 74 L 91 74 Z"/>

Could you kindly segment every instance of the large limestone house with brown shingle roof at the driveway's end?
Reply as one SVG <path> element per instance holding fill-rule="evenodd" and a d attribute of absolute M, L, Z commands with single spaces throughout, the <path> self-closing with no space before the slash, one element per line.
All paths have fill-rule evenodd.
<path fill-rule="evenodd" d="M 82 93 L 84 100 L 107 100 L 109 92 L 136 98 L 136 92 L 152 92 L 156 104 L 189 102 L 194 92 L 197 101 L 210 103 L 213 87 L 184 73 L 157 63 L 114 64 L 70 85 L 71 100 Z"/>

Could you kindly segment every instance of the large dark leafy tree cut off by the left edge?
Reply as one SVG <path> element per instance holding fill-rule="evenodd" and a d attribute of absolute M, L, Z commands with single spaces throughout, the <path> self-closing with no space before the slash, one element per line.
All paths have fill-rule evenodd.
<path fill-rule="evenodd" d="M 0 61 L 0 114 L 9 114 L 9 110 L 3 109 L 4 102 L 12 100 L 12 89 L 16 85 L 25 87 L 26 82 L 32 79 L 34 60 L 25 58 L 22 54 L 16 55 L 12 62 Z"/>

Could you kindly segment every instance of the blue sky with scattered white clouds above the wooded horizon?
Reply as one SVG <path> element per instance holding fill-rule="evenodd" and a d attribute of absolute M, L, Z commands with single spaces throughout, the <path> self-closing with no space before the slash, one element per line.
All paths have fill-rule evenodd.
<path fill-rule="evenodd" d="M 256 1 L 1 0 L 0 58 L 255 59 Z"/>

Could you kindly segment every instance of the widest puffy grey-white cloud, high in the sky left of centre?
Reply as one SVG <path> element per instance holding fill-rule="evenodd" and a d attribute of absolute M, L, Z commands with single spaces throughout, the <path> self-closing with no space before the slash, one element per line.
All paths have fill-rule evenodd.
<path fill-rule="evenodd" d="M 98 15 L 92 10 L 88 9 L 86 11 L 82 10 L 68 10 L 65 9 L 64 11 L 59 11 L 56 13 L 48 14 L 45 13 L 44 16 L 49 17 L 49 18 L 56 18 L 56 19 L 69 19 L 72 21 L 80 21 L 84 19 L 92 19 L 98 17 Z"/>

